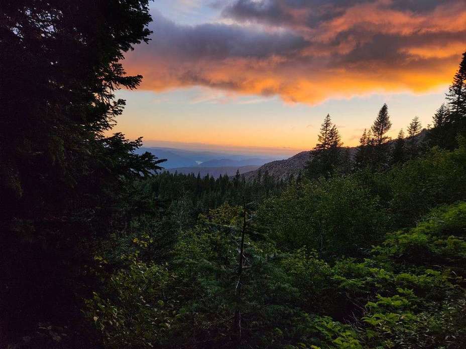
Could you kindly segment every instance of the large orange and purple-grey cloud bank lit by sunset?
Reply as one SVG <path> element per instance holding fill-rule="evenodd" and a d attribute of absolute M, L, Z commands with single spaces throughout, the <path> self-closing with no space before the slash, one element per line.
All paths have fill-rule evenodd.
<path fill-rule="evenodd" d="M 291 5 L 290 5 L 291 4 Z M 466 49 L 463 0 L 235 0 L 235 25 L 178 26 L 154 14 L 154 37 L 127 56 L 142 88 L 209 86 L 318 103 L 450 82 Z"/>

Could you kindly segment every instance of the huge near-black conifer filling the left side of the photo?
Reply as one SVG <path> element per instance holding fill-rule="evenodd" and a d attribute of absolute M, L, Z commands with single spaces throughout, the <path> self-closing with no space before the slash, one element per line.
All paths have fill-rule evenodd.
<path fill-rule="evenodd" d="M 106 136 L 114 91 L 142 79 L 119 61 L 149 40 L 147 0 L 3 1 L 0 18 L 2 337 L 80 315 L 83 266 L 126 224 L 123 187 L 160 167 L 141 139 Z"/>

